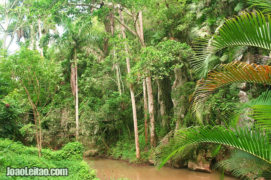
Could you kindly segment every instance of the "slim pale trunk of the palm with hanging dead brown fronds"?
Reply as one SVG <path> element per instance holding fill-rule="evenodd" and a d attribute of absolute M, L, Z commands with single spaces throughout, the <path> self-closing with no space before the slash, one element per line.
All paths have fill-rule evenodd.
<path fill-rule="evenodd" d="M 75 63 L 75 125 L 76 125 L 76 141 L 79 138 L 79 108 L 78 108 L 78 75 L 77 75 L 77 49 L 74 48 Z"/>

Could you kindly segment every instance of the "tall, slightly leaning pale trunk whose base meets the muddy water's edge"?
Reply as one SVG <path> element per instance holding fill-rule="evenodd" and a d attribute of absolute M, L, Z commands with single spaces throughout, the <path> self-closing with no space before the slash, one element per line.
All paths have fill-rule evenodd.
<path fill-rule="evenodd" d="M 119 19 L 120 21 L 123 23 L 123 15 L 122 15 L 122 11 L 119 9 Z M 124 27 L 121 25 L 120 27 L 121 33 L 122 33 L 122 37 L 123 39 L 126 38 L 126 34 L 124 31 Z M 125 46 L 125 51 L 127 53 L 128 49 Z M 131 72 L 131 66 L 130 66 L 130 59 L 129 57 L 126 57 L 126 65 L 127 65 L 127 72 L 130 73 Z M 132 110 L 133 110 L 133 120 L 134 120 L 134 130 L 135 130 L 135 143 L 136 143 L 136 158 L 140 158 L 140 148 L 139 148 L 139 138 L 138 138 L 138 127 L 137 127 L 137 117 L 136 117 L 136 100 L 135 100 L 135 94 L 134 94 L 134 90 L 133 90 L 133 86 L 130 86 L 130 94 L 131 94 L 131 102 L 132 102 Z"/>

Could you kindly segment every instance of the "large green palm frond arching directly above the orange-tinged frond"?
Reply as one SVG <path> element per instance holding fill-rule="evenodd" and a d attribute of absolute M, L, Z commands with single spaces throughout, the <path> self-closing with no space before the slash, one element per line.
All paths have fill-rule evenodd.
<path fill-rule="evenodd" d="M 236 19 L 232 18 L 220 27 L 219 34 L 211 39 L 203 38 L 198 46 L 194 48 L 195 56 L 192 57 L 191 64 L 195 71 L 205 71 L 204 64 L 217 52 L 227 48 L 231 60 L 241 48 L 245 46 L 255 46 L 271 50 L 271 18 L 267 15 L 267 20 L 262 13 L 245 13 Z"/>

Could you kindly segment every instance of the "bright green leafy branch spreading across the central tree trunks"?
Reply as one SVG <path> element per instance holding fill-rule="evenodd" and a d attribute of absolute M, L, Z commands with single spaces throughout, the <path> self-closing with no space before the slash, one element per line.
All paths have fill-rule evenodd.
<path fill-rule="evenodd" d="M 131 68 L 127 81 L 135 84 L 137 81 L 151 75 L 158 79 L 169 76 L 175 68 L 183 66 L 181 60 L 188 58 L 191 49 L 187 44 L 174 40 L 160 42 L 155 47 L 146 47 L 141 50 L 140 60 Z"/>

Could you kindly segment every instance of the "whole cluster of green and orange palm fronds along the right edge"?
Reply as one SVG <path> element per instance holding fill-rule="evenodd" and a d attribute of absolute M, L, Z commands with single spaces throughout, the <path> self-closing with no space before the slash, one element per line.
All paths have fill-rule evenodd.
<path fill-rule="evenodd" d="M 265 0 L 249 0 L 270 12 L 270 2 Z M 202 123 L 203 104 L 219 87 L 237 83 L 253 82 L 271 85 L 271 67 L 268 65 L 233 62 L 216 66 L 209 71 L 208 63 L 218 53 L 226 52 L 233 60 L 235 54 L 245 46 L 255 46 L 271 50 L 270 29 L 271 17 L 263 12 L 245 13 L 236 19 L 230 19 L 219 29 L 219 34 L 200 43 L 192 59 L 196 70 L 203 69 L 208 74 L 206 79 L 197 82 L 194 93 L 190 96 L 190 110 Z M 203 46 L 204 47 L 203 47 Z M 206 70 L 207 69 L 207 70 Z M 234 147 L 231 158 L 216 164 L 236 177 L 246 179 L 271 178 L 271 95 L 265 92 L 247 105 L 235 107 L 235 115 L 247 113 L 254 122 L 243 127 L 194 126 L 172 132 L 166 138 L 168 144 L 161 141 L 156 148 L 155 164 L 160 169 L 169 158 L 181 153 L 187 146 L 197 143 L 223 144 Z M 174 134 L 174 136 L 172 136 Z"/>

